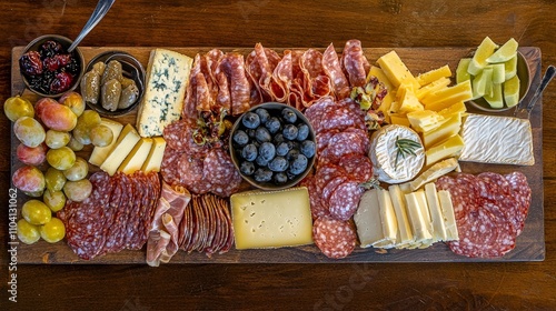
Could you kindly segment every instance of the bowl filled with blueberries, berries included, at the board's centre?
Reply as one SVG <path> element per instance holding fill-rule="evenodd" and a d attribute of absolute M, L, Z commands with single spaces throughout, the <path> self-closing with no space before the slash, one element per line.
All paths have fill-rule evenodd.
<path fill-rule="evenodd" d="M 307 118 L 284 103 L 256 106 L 231 128 L 231 160 L 247 182 L 262 190 L 299 183 L 311 170 L 316 150 Z"/>

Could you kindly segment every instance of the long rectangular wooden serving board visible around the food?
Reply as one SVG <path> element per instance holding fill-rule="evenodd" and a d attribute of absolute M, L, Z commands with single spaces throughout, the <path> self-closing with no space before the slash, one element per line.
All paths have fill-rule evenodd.
<path fill-rule="evenodd" d="M 149 53 L 152 48 L 80 48 L 86 61 L 97 56 L 100 52 L 120 50 L 135 56 L 145 67 L 147 67 Z M 169 48 L 177 52 L 195 57 L 198 52 L 206 52 L 211 48 Z M 18 59 L 22 53 L 23 48 L 17 47 L 12 50 L 11 62 L 11 93 L 22 96 L 34 102 L 38 97 L 24 89 L 24 84 L 19 73 Z M 248 54 L 252 48 L 225 48 L 222 51 L 238 51 Z M 276 49 L 281 51 L 284 49 Z M 391 49 L 371 48 L 364 49 L 370 62 L 377 60 L 380 56 L 389 52 Z M 449 64 L 453 72 L 457 67 L 460 58 L 470 54 L 473 48 L 397 48 L 396 52 L 401 60 L 407 64 L 414 74 L 426 72 L 444 64 Z M 530 70 L 530 89 L 534 90 L 540 80 L 540 50 L 538 48 L 525 47 L 519 48 L 519 51 L 525 56 Z M 528 98 L 533 91 L 529 91 Z M 468 106 L 469 112 L 474 110 Z M 135 124 L 137 111 L 132 111 L 128 116 L 115 119 L 122 123 Z M 513 110 L 504 112 L 504 116 L 512 116 Z M 170 263 L 316 263 L 316 262 L 489 262 L 489 261 L 542 261 L 545 259 L 545 234 L 544 234 L 544 204 L 543 204 L 543 104 L 539 101 L 535 107 L 530 122 L 533 128 L 533 143 L 535 152 L 535 165 L 517 167 L 502 164 L 480 164 L 471 162 L 460 162 L 461 170 L 469 173 L 479 173 L 484 171 L 494 171 L 498 173 L 509 173 L 512 171 L 520 171 L 527 175 L 529 185 L 533 190 L 533 201 L 529 209 L 529 214 L 525 222 L 523 233 L 516 240 L 516 248 L 503 258 L 498 259 L 469 259 L 454 254 L 446 244 L 435 243 L 433 247 L 424 250 L 378 250 L 378 249 L 360 249 L 357 248 L 349 257 L 342 260 L 331 260 L 326 258 L 316 245 L 306 245 L 297 248 L 282 248 L 272 250 L 230 250 L 225 254 L 215 254 L 208 258 L 200 253 L 186 253 L 179 251 L 170 261 Z M 500 133 L 512 134 L 512 133 Z M 17 160 L 16 147 L 19 144 L 17 138 L 11 136 L 11 159 L 12 172 L 22 164 Z M 88 159 L 90 148 L 78 152 L 78 156 Z M 90 167 L 91 171 L 98 170 Z M 19 208 L 22 205 L 24 194 L 18 192 Z M 44 241 L 39 241 L 32 245 L 23 243 L 18 248 L 18 263 L 62 263 L 62 264 L 125 264 L 125 263 L 145 263 L 146 250 L 141 251 L 122 251 L 115 254 L 108 254 L 96 258 L 90 261 L 80 260 L 64 242 L 50 244 Z"/>

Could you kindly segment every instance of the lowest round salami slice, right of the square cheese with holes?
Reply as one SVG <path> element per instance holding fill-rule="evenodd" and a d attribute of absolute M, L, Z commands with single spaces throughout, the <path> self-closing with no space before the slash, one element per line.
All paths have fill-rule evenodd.
<path fill-rule="evenodd" d="M 351 221 L 320 217 L 312 224 L 312 240 L 328 258 L 349 255 L 357 243 L 357 232 Z"/>

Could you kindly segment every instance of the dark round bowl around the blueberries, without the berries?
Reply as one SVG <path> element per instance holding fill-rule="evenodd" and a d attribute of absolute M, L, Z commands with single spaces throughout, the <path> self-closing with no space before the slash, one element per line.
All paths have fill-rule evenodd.
<path fill-rule="evenodd" d="M 289 109 L 294 110 L 294 112 L 297 116 L 296 124 L 298 126 L 298 124 L 302 123 L 302 124 L 307 124 L 309 127 L 309 136 L 307 137 L 307 140 L 312 141 L 315 143 L 315 148 L 316 148 L 315 131 L 314 131 L 312 127 L 310 126 L 309 120 L 307 120 L 307 118 L 299 110 L 295 109 L 291 106 L 284 104 L 284 103 L 267 102 L 267 103 L 262 103 L 262 104 L 258 104 L 256 107 L 252 107 L 249 111 L 254 112 L 258 108 L 264 108 L 264 109 L 268 110 L 268 112 L 270 113 L 271 117 L 279 116 L 285 108 L 289 108 Z M 315 164 L 315 159 L 316 159 L 317 154 L 315 154 L 312 158 L 308 158 L 307 168 L 305 169 L 305 171 L 302 173 L 297 174 L 294 179 L 288 179 L 288 181 L 285 183 L 275 183 L 274 181 L 258 182 L 252 178 L 252 175 L 245 175 L 244 173 L 241 173 L 240 163 L 241 163 L 242 159 L 239 156 L 239 153 L 241 151 L 240 151 L 240 148 L 234 142 L 234 134 L 239 129 L 242 129 L 242 130 L 245 129 L 245 127 L 242 124 L 244 116 L 245 116 L 245 113 L 240 118 L 238 118 L 236 120 L 236 122 L 234 123 L 234 127 L 231 128 L 231 132 L 230 132 L 230 142 L 229 142 L 231 160 L 232 160 L 234 164 L 236 165 L 236 169 L 241 174 L 241 177 L 247 182 L 249 182 L 251 185 L 259 188 L 259 189 L 262 189 L 262 190 L 281 190 L 281 189 L 291 188 L 291 187 L 296 185 L 297 183 L 299 183 L 310 172 L 312 165 Z"/>

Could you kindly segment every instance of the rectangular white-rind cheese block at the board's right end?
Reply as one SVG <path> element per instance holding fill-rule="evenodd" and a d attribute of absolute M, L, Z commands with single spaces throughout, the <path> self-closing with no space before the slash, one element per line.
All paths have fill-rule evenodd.
<path fill-rule="evenodd" d="M 529 120 L 469 113 L 461 127 L 464 149 L 459 161 L 533 165 Z"/>

